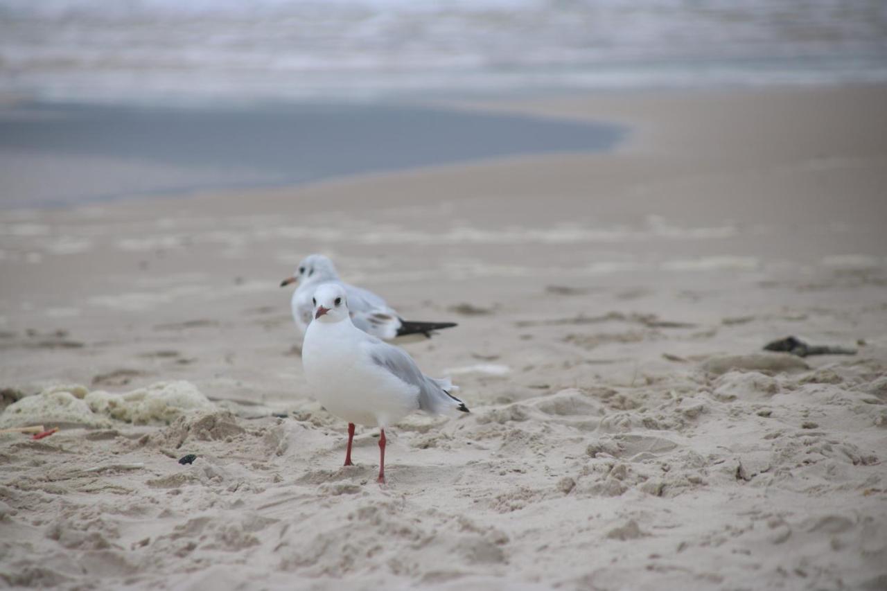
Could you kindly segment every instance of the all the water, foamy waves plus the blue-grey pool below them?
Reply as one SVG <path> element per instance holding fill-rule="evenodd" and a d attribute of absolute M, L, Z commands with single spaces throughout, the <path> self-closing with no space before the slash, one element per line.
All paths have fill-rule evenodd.
<path fill-rule="evenodd" d="M 607 150 L 441 106 L 881 82 L 885 33 L 882 0 L 0 0 L 0 207 Z"/>

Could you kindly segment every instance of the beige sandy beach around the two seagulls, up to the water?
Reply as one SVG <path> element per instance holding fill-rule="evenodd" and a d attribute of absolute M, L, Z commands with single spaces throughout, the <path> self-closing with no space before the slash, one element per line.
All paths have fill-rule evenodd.
<path fill-rule="evenodd" d="M 887 587 L 884 105 L 462 105 L 636 132 L 616 154 L 0 214 L 0 387 L 42 397 L 0 422 L 63 427 L 0 436 L 0 584 Z M 392 429 L 384 488 L 371 429 L 341 468 L 345 426 L 293 351 L 277 284 L 313 251 L 406 318 L 459 321 L 405 346 L 473 412 Z M 858 353 L 761 353 L 785 335 Z"/>

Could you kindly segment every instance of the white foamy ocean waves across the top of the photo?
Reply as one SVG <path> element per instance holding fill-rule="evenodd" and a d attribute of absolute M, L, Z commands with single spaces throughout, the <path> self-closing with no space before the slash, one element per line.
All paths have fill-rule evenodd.
<path fill-rule="evenodd" d="M 0 0 L 0 91 L 50 101 L 883 81 L 884 0 Z"/>

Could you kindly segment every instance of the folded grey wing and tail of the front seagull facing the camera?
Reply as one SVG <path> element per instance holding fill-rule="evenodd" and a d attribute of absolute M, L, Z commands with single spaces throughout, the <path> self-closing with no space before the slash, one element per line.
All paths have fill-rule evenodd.
<path fill-rule="evenodd" d="M 404 351 L 388 343 L 379 340 L 368 340 L 366 347 L 369 350 L 373 363 L 394 374 L 401 382 L 419 388 L 419 408 L 430 414 L 452 414 L 455 411 L 468 412 L 467 406 L 451 395 L 451 390 L 457 390 L 449 379 L 436 380 L 422 374 L 419 366 Z"/>

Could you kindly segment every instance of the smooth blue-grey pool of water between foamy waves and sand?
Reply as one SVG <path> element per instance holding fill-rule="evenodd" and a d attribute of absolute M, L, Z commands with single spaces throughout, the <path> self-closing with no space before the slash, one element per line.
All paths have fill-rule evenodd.
<path fill-rule="evenodd" d="M 0 109 L 0 211 L 602 152 L 624 135 L 606 122 L 398 104 L 31 103 Z"/>

